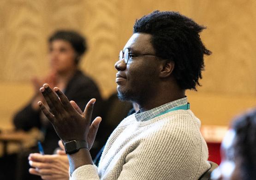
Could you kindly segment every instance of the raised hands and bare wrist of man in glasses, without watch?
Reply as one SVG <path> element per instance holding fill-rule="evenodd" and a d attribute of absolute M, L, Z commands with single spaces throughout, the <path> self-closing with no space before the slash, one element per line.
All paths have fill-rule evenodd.
<path fill-rule="evenodd" d="M 96 99 L 91 99 L 83 113 L 75 103 L 69 102 L 67 97 L 58 87 L 54 87 L 54 92 L 48 84 L 44 84 L 40 91 L 46 100 L 49 110 L 46 109 L 42 101 L 38 102 L 40 109 L 48 120 L 53 124 L 54 129 L 62 142 L 71 140 L 83 140 L 91 148 L 101 117 L 96 117 L 90 125 L 91 115 Z M 59 98 L 56 96 L 59 96 Z M 87 140 L 88 139 L 88 140 Z M 93 164 L 89 149 L 82 148 L 74 154 L 68 155 L 71 173 L 78 167 Z"/>

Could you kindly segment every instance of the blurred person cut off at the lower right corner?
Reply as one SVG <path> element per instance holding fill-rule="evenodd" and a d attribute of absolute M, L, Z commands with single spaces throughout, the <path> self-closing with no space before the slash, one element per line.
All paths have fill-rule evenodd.
<path fill-rule="evenodd" d="M 256 110 L 238 116 L 221 143 L 213 180 L 256 180 Z"/>

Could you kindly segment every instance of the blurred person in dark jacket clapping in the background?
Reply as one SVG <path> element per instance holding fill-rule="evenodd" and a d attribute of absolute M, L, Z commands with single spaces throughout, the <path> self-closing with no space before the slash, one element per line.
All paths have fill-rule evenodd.
<path fill-rule="evenodd" d="M 43 83 L 48 83 L 51 87 L 60 87 L 68 99 L 74 100 L 81 109 L 85 108 L 86 103 L 91 98 L 97 98 L 94 108 L 95 115 L 101 114 L 102 99 L 96 83 L 78 69 L 78 64 L 87 50 L 85 38 L 75 31 L 59 30 L 49 37 L 48 45 L 50 72 L 45 78 L 33 78 L 35 94 L 29 104 L 15 114 L 13 123 L 16 129 L 24 131 L 35 127 L 40 129 L 44 134 L 44 141 L 42 142 L 44 152 L 45 154 L 52 154 L 58 147 L 60 138 L 37 105 L 38 101 L 44 101 L 39 87 Z M 95 148 L 94 151 L 93 147 L 92 153 L 96 155 L 99 149 Z M 35 148 L 31 151 L 37 152 L 38 150 Z"/>

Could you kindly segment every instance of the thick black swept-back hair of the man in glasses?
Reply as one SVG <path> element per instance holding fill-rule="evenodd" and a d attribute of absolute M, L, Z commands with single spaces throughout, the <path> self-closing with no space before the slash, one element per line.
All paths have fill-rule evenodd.
<path fill-rule="evenodd" d="M 152 35 L 156 56 L 175 63 L 173 76 L 179 87 L 196 90 L 196 85 L 201 86 L 203 55 L 211 54 L 199 36 L 203 29 L 179 12 L 154 11 L 136 20 L 133 33 Z"/>

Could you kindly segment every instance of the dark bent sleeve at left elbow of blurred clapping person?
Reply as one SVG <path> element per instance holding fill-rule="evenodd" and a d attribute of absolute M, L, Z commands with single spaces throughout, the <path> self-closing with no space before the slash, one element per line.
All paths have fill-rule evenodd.
<path fill-rule="evenodd" d="M 32 109 L 31 104 L 18 111 L 13 118 L 15 128 L 28 131 L 33 127 L 40 128 L 40 110 Z"/>

